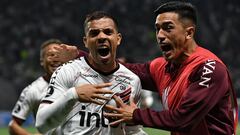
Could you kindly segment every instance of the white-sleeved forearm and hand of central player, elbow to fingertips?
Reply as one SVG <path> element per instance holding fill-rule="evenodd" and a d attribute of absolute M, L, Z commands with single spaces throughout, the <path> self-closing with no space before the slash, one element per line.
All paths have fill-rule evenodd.
<path fill-rule="evenodd" d="M 97 99 L 110 100 L 102 94 L 112 94 L 110 90 L 101 89 L 108 87 L 110 84 L 100 85 L 81 85 L 76 88 L 70 88 L 63 95 L 60 95 L 54 102 L 42 102 L 39 106 L 36 127 L 41 133 L 45 133 L 60 125 L 67 117 L 69 112 L 74 109 L 77 101 L 82 103 L 91 102 L 103 104 Z"/>

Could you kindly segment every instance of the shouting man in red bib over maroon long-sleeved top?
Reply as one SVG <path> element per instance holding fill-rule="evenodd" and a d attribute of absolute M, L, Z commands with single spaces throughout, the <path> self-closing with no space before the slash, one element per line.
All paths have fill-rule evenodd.
<path fill-rule="evenodd" d="M 156 11 L 156 37 L 163 57 L 126 65 L 139 75 L 143 88 L 157 90 L 163 111 L 139 109 L 134 103 L 106 113 L 121 122 L 171 131 L 172 135 L 236 134 L 238 109 L 227 67 L 194 40 L 197 19 L 192 4 L 168 2 Z"/>

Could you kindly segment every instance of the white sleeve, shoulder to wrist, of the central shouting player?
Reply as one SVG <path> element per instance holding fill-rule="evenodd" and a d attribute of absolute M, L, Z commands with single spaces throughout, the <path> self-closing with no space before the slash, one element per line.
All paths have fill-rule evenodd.
<path fill-rule="evenodd" d="M 65 65 L 52 75 L 48 93 L 42 100 L 36 116 L 35 126 L 39 132 L 46 133 L 59 126 L 77 102 L 78 95 L 75 87 L 72 87 L 73 73 L 71 66 Z"/>

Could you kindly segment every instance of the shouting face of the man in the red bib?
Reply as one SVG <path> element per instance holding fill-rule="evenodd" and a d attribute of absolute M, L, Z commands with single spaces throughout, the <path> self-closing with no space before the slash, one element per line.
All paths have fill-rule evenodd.
<path fill-rule="evenodd" d="M 177 62 L 187 50 L 187 31 L 178 14 L 166 12 L 159 14 L 155 22 L 156 37 L 163 57 L 167 61 Z"/>

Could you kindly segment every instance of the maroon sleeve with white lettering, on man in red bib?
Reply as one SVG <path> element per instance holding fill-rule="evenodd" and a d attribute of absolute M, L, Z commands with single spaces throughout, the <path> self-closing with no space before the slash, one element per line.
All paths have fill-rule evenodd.
<path fill-rule="evenodd" d="M 229 95 L 230 84 L 225 66 L 216 62 L 214 68 L 206 74 L 203 64 L 192 72 L 189 77 L 190 85 L 178 108 L 160 112 L 136 109 L 133 114 L 134 122 L 171 131 L 191 130 L 220 100 Z"/>

